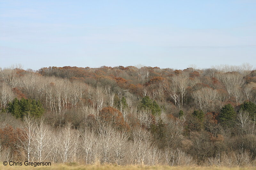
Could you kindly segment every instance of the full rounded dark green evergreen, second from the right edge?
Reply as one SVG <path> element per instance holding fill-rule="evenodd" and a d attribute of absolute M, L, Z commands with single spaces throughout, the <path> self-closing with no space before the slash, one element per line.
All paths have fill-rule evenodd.
<path fill-rule="evenodd" d="M 231 104 L 227 104 L 220 110 L 220 123 L 223 126 L 233 126 L 236 121 L 236 112 Z"/>

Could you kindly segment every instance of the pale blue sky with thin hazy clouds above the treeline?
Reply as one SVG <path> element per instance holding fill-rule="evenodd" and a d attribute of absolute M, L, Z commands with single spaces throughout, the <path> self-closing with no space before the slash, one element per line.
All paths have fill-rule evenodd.
<path fill-rule="evenodd" d="M 0 67 L 256 67 L 255 0 L 0 0 Z"/>

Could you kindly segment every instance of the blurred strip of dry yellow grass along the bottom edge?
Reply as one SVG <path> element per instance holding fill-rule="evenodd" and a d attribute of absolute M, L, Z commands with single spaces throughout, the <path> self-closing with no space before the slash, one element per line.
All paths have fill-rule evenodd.
<path fill-rule="evenodd" d="M 252 170 L 256 167 L 219 167 L 219 166 L 116 166 L 116 165 L 77 165 L 77 164 L 52 164 L 52 166 L 4 166 L 0 165 L 2 170 Z"/>

